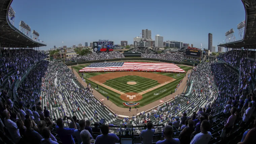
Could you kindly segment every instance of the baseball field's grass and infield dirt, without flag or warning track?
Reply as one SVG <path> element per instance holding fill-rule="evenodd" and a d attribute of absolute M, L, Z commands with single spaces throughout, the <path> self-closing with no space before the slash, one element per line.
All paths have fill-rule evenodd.
<path fill-rule="evenodd" d="M 78 73 L 88 65 L 77 65 L 72 68 Z M 179 65 L 178 65 L 179 66 Z M 186 72 L 191 67 L 179 66 Z M 79 73 L 82 76 L 82 73 Z M 122 108 L 137 108 L 157 101 L 169 94 L 184 78 L 185 73 L 164 72 L 90 72 L 84 73 L 86 83 L 106 99 Z M 98 88 L 97 88 L 98 85 Z M 129 103 L 130 102 L 130 103 Z M 134 105 L 135 104 L 135 105 Z"/>

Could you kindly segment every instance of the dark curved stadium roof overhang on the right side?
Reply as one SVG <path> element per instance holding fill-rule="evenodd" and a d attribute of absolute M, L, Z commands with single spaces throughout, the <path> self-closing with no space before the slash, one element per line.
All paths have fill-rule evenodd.
<path fill-rule="evenodd" d="M 228 48 L 251 48 L 256 49 L 256 0 L 242 0 L 245 7 L 245 34 L 239 41 L 220 44 L 218 46 Z"/>

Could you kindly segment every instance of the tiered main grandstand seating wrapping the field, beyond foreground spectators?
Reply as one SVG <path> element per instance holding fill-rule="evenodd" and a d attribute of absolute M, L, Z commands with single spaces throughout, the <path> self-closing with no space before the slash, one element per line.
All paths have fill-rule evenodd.
<path fill-rule="evenodd" d="M 14 51 L 11 53 L 13 56 L 15 55 Z M 209 130 L 212 135 L 209 143 L 237 143 L 241 141 L 243 133 L 252 128 L 254 115 L 243 127 L 239 127 L 242 118 L 237 118 L 230 134 L 222 138 L 225 121 L 230 115 L 224 114 L 223 109 L 229 101 L 229 97 L 241 99 L 245 99 L 246 95 L 255 97 L 256 64 L 252 59 L 246 59 L 245 55 L 239 51 L 236 53 L 236 56 L 233 57 L 229 51 L 220 56 L 220 59 L 226 64 L 238 68 L 238 73 L 225 63 L 203 62 L 197 65 L 189 75 L 188 83 L 191 85 L 187 85 L 184 89 L 188 95 L 177 95 L 171 101 L 130 118 L 118 117 L 108 110 L 93 96 L 92 87 L 90 85 L 84 87 L 65 64 L 45 61 L 43 60 L 45 55 L 33 50 L 23 50 L 17 54 L 17 57 L 6 57 L 5 54 L 1 58 L 3 63 L 0 63 L 1 120 L 4 121 L 2 112 L 6 108 L 6 104 L 8 105 L 6 101 L 9 96 L 14 106 L 11 110 L 12 113 L 19 112 L 19 104 L 34 106 L 41 102 L 42 109 L 46 106 L 54 123 L 51 133 L 56 137 L 58 143 L 62 142 L 57 134 L 56 120 L 65 115 L 91 120 L 92 125 L 99 122 L 100 119 L 105 119 L 110 133 L 116 134 L 123 140 L 132 140 L 133 143 L 141 143 L 139 134 L 145 129 L 147 123 L 145 121 L 152 121 L 156 130 L 153 142 L 156 143 L 164 139 L 162 137 L 163 128 L 168 122 L 172 122 L 174 117 L 181 118 L 182 113 L 186 112 L 188 118 L 194 119 L 193 112 L 197 112 L 200 107 L 211 107 L 208 114 L 213 115 L 214 122 Z M 255 52 L 248 53 L 250 54 L 249 58 L 255 56 Z M 110 53 L 106 55 L 110 55 Z M 145 57 L 151 58 L 149 55 Z M 171 56 L 168 59 L 174 60 Z M 189 91 L 190 88 L 191 91 Z M 238 105 L 240 102 L 232 106 L 238 108 Z M 7 109 L 10 110 L 10 108 Z M 70 121 L 64 123 L 65 127 L 69 127 Z M 0 143 L 14 143 L 8 130 L 4 128 L 4 131 L 5 133 L 0 130 Z M 179 138 L 180 133 L 180 127 L 173 128 L 173 138 Z M 93 138 L 95 139 L 98 135 L 100 134 L 94 133 Z M 24 138 L 21 141 L 26 142 Z M 76 139 L 75 141 L 77 142 Z"/>

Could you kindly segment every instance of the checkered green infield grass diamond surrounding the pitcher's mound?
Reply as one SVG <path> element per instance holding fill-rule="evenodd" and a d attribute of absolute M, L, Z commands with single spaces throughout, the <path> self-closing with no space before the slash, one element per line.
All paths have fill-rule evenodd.
<path fill-rule="evenodd" d="M 134 81 L 137 83 L 134 85 L 130 85 L 130 84 L 127 84 L 127 82 L 129 81 Z M 157 80 L 153 80 L 145 77 L 140 77 L 136 75 L 127 75 L 127 76 L 106 80 L 106 82 L 104 82 L 103 84 L 109 87 L 115 88 L 118 91 L 121 91 L 123 93 L 128 93 L 128 92 L 139 93 L 149 88 L 155 87 L 160 83 L 158 83 Z"/>

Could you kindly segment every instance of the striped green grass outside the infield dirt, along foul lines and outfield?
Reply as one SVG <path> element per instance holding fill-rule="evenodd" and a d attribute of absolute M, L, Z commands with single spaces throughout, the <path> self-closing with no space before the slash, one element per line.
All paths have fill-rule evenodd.
<path fill-rule="evenodd" d="M 81 70 L 82 68 L 84 68 L 85 65 L 80 65 L 80 66 L 73 66 L 73 69 L 76 70 L 76 72 L 78 72 L 79 70 Z M 186 66 L 179 66 L 181 69 L 185 70 L 185 71 L 188 71 L 191 69 L 191 67 L 186 67 Z M 96 83 L 88 80 L 87 78 L 89 77 L 92 77 L 92 76 L 96 76 L 96 75 L 101 75 L 101 74 L 104 74 L 104 73 L 109 73 L 109 72 L 98 72 L 98 73 L 85 73 L 86 74 L 86 77 L 85 78 L 85 81 L 86 83 L 91 83 L 91 85 L 95 88 L 96 87 Z M 166 75 L 166 76 L 169 76 L 169 77 L 172 77 L 172 78 L 175 78 L 176 80 L 174 80 L 173 82 L 171 83 L 168 83 L 166 85 L 163 85 L 157 89 L 154 89 L 153 91 L 150 91 L 146 94 L 143 94 L 143 98 L 141 100 L 139 100 L 138 102 L 140 102 L 139 105 L 137 105 L 136 107 L 139 108 L 139 107 L 142 107 L 142 106 L 145 106 L 149 103 L 152 103 L 154 101 L 157 101 L 165 96 L 168 96 L 171 94 L 171 91 L 174 93 L 174 89 L 176 88 L 176 86 L 179 84 L 179 82 L 184 78 L 185 74 L 180 74 L 179 77 L 177 77 L 177 73 L 162 73 L 162 72 L 154 72 L 154 73 L 157 73 L 157 74 L 162 74 L 162 75 Z M 173 77 L 173 74 L 175 74 L 175 77 Z M 81 75 L 81 74 L 80 74 Z M 104 83 L 105 84 L 105 83 Z M 147 84 L 147 83 L 146 83 Z M 109 86 L 109 85 L 108 85 Z M 115 93 L 101 85 L 98 85 L 98 87 L 103 91 L 103 92 L 107 92 L 107 94 L 105 93 L 102 93 L 101 91 L 98 91 L 102 96 L 104 97 L 109 97 L 109 100 L 113 103 L 115 103 L 117 106 L 119 107 L 122 107 L 122 108 L 127 108 L 126 106 L 124 106 L 122 104 L 122 102 L 124 102 L 121 98 L 120 98 L 120 94 L 118 93 Z M 158 91 L 161 91 L 163 89 L 166 89 L 166 91 L 162 92 L 162 93 L 159 93 L 159 95 L 154 95 L 154 93 L 157 93 Z M 134 107 L 132 107 L 134 108 Z"/>

